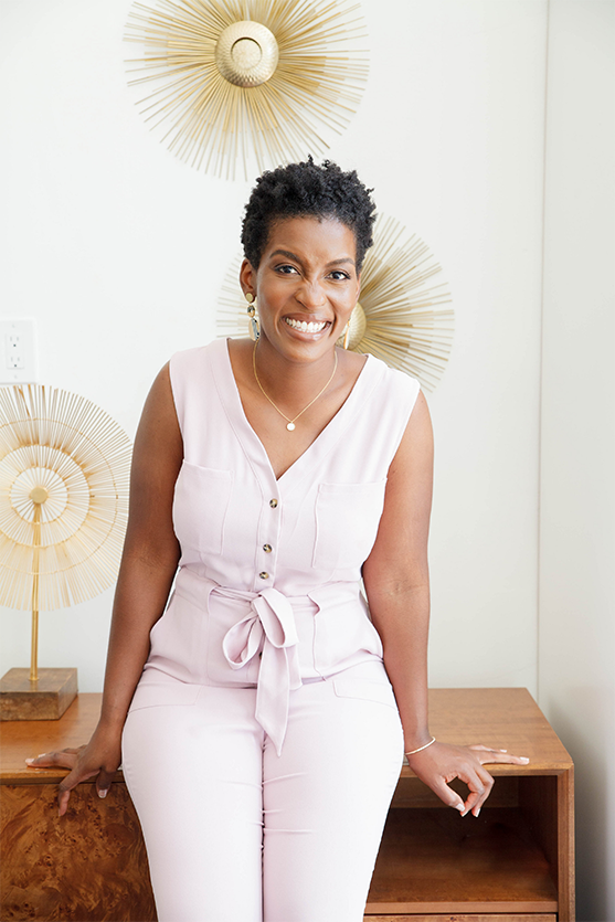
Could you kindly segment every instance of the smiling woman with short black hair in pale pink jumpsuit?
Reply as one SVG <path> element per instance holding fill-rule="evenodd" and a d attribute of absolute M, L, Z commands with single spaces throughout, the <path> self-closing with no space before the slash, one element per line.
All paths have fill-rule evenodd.
<path fill-rule="evenodd" d="M 475 816 L 483 763 L 523 761 L 427 729 L 427 407 L 417 382 L 337 345 L 373 219 L 333 163 L 258 180 L 240 275 L 257 339 L 158 375 L 100 722 L 31 763 L 74 766 L 62 815 L 79 781 L 105 796 L 121 759 L 159 922 L 359 922 L 404 751 Z"/>

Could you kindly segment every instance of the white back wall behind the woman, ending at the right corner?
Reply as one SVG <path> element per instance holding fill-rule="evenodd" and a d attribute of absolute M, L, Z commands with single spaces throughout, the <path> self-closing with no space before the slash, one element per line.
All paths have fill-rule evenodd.
<path fill-rule="evenodd" d="M 431 399 L 434 685 L 536 690 L 544 0 L 364 0 L 371 75 L 331 156 L 431 245 L 457 314 Z M 248 186 L 148 133 L 126 86 L 129 3 L 0 8 L 0 305 L 39 321 L 41 381 L 134 434 L 157 369 L 214 336 Z M 41 665 L 100 687 L 112 593 L 42 617 Z M 0 675 L 29 658 L 0 617 Z"/>

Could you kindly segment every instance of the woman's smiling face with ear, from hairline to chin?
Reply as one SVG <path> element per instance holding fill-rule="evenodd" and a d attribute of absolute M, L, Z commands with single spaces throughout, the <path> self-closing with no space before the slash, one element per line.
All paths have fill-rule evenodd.
<path fill-rule="evenodd" d="M 257 298 L 261 336 L 290 358 L 332 349 L 359 298 L 354 232 L 336 219 L 273 224 L 261 264 L 244 261 L 244 293 Z"/>

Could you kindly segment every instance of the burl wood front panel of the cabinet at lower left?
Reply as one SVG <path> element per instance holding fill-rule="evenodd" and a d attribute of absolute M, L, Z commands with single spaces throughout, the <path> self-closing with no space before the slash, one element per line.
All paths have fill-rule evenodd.
<path fill-rule="evenodd" d="M 79 785 L 57 817 L 55 785 L 0 788 L 2 922 L 156 922 L 139 823 L 124 784 Z"/>

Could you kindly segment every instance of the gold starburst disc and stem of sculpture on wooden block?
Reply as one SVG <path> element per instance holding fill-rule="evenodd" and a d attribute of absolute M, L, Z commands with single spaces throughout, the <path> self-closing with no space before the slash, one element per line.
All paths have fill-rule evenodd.
<path fill-rule="evenodd" d="M 85 602 L 117 575 L 130 441 L 76 394 L 0 388 L 0 604 L 39 612 Z"/>

